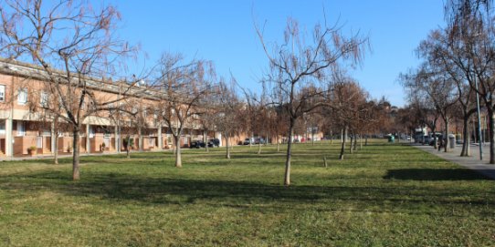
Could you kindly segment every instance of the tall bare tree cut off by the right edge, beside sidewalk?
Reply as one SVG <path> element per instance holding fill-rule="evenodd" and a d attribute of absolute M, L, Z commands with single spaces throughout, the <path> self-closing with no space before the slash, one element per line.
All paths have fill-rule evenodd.
<path fill-rule="evenodd" d="M 485 104 L 490 124 L 490 164 L 495 164 L 495 19 L 491 0 L 449 0 L 446 5 L 448 39 L 468 62 L 469 86 Z M 460 45 L 460 46 L 458 46 Z M 453 49 L 455 51 L 455 49 Z M 466 74 L 466 73 L 465 73 Z"/>

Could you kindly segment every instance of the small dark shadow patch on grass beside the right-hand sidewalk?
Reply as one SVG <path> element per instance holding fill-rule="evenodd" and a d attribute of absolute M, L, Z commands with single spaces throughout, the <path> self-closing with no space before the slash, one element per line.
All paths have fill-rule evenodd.
<path fill-rule="evenodd" d="M 397 169 L 388 170 L 385 180 L 490 180 L 469 169 Z"/>

